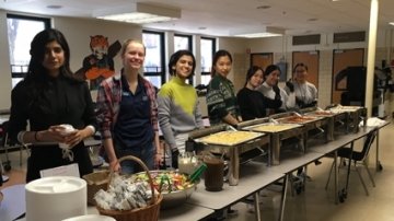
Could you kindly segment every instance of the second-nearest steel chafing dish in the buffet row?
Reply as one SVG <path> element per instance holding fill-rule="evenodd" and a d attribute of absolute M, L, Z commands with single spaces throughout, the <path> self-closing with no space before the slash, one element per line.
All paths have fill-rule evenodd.
<path fill-rule="evenodd" d="M 275 127 L 274 127 L 275 126 Z M 240 123 L 237 129 L 265 132 L 270 135 L 269 141 L 269 165 L 278 165 L 280 158 L 280 147 L 282 140 L 288 138 L 299 138 L 302 143 L 302 151 L 304 152 L 304 130 L 302 125 L 298 124 L 278 124 L 274 123 L 270 118 L 259 118 Z"/>

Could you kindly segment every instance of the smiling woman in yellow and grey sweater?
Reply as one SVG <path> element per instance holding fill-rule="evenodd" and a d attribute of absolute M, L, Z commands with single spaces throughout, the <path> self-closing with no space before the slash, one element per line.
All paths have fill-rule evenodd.
<path fill-rule="evenodd" d="M 186 83 L 195 68 L 196 59 L 189 50 L 173 54 L 169 62 L 172 79 L 163 84 L 158 94 L 159 124 L 171 148 L 174 168 L 177 168 L 178 154 L 185 152 L 188 132 L 204 127 L 197 92 Z"/>

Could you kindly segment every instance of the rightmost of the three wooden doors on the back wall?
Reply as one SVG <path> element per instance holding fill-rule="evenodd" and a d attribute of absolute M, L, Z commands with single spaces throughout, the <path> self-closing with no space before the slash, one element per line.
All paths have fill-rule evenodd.
<path fill-rule="evenodd" d="M 335 49 L 333 51 L 333 88 L 332 88 L 332 103 L 340 104 L 340 95 L 346 91 L 346 78 L 335 82 L 335 77 L 345 68 L 351 66 L 363 66 L 364 49 Z"/>

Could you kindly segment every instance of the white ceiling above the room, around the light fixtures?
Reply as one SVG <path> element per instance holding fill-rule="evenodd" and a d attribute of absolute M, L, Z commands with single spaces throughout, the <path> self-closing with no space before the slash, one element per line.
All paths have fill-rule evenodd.
<path fill-rule="evenodd" d="M 182 10 L 179 20 L 143 25 L 181 33 L 230 36 L 265 26 L 288 35 L 367 31 L 370 0 L 0 0 L 0 9 L 43 15 L 92 18 L 96 10 L 147 2 Z M 379 0 L 379 28 L 394 28 L 394 0 Z M 47 5 L 62 5 L 48 9 Z M 269 9 L 257 7 L 270 5 Z M 316 21 L 309 21 L 316 19 Z"/>

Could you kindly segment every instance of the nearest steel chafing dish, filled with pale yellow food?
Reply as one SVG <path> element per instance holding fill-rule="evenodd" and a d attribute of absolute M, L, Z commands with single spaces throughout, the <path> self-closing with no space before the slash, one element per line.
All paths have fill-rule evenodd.
<path fill-rule="evenodd" d="M 237 185 L 240 177 L 240 156 L 250 150 L 262 150 L 260 147 L 269 142 L 269 136 L 263 132 L 245 133 L 245 139 L 236 139 L 223 141 L 221 139 L 215 140 L 212 136 L 225 136 L 224 132 L 236 132 L 233 127 L 228 125 L 219 125 L 209 128 L 204 128 L 189 132 L 189 139 L 197 143 L 199 150 L 209 150 L 215 153 L 227 154 L 230 158 L 229 162 L 229 184 L 231 186 Z M 239 131 L 240 135 L 245 131 Z M 229 133 L 230 135 L 230 133 Z M 213 138 L 213 139 L 211 139 Z M 199 151 L 197 150 L 197 151 Z M 257 156 L 257 155 L 256 155 Z"/>

